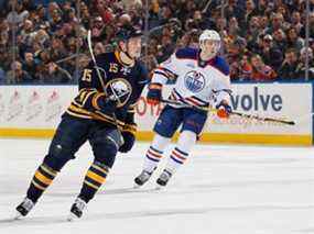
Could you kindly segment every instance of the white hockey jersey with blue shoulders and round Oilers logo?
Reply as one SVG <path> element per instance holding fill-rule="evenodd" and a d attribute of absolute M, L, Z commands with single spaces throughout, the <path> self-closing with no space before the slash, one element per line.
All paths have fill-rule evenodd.
<path fill-rule="evenodd" d="M 195 48 L 176 51 L 153 71 L 152 82 L 175 81 L 169 100 L 188 105 L 208 107 L 213 101 L 229 101 L 228 64 L 219 56 L 201 62 L 198 53 Z"/>

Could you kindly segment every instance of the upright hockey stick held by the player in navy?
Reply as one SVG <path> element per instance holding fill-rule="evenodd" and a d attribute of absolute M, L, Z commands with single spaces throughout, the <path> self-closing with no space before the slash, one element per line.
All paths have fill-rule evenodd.
<path fill-rule="evenodd" d="M 106 70 L 105 70 L 105 69 L 102 69 L 102 68 L 100 68 L 100 67 L 97 66 L 96 58 L 95 58 L 95 55 L 94 55 L 94 52 L 93 52 L 91 31 L 90 31 L 90 30 L 88 30 L 88 32 L 87 32 L 87 44 L 88 44 L 89 54 L 90 54 L 90 56 L 91 56 L 91 60 L 93 60 L 93 63 L 94 63 L 94 66 L 95 66 L 96 73 L 97 73 L 97 77 L 98 77 L 98 79 L 99 79 L 99 81 L 100 81 L 100 85 L 101 85 L 101 87 L 102 87 L 102 91 L 104 91 L 105 96 L 107 97 L 108 93 L 107 93 L 107 91 L 106 91 L 106 86 L 105 86 L 105 81 L 104 81 L 104 80 L 107 79 L 107 74 L 106 74 Z M 102 79 L 102 77 L 101 77 L 101 74 L 100 74 L 100 70 L 99 70 L 99 69 L 101 69 L 101 70 L 104 71 L 104 79 Z M 122 133 L 121 133 L 121 131 L 120 131 L 120 129 L 119 129 L 119 123 L 118 123 L 118 120 L 117 120 L 117 116 L 116 116 L 116 113 L 115 113 L 115 112 L 112 112 L 112 119 L 113 119 L 115 125 L 117 126 L 117 131 L 118 131 L 118 133 L 119 133 L 119 135 L 120 135 L 120 141 L 121 141 L 121 145 L 122 145 L 122 144 L 124 143 L 124 140 L 123 140 Z M 113 142 L 115 142 L 115 141 L 113 141 Z M 118 147 L 118 148 L 119 148 L 119 147 Z"/>

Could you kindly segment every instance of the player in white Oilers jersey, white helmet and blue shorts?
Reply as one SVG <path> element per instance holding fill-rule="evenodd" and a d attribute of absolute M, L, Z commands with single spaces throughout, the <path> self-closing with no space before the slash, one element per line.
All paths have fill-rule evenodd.
<path fill-rule="evenodd" d="M 176 147 L 172 151 L 166 166 L 156 180 L 159 187 L 166 186 L 169 179 L 186 161 L 197 135 L 201 134 L 207 119 L 204 111 L 215 99 L 219 116 L 228 116 L 231 112 L 229 66 L 217 54 L 221 40 L 213 30 L 205 30 L 199 36 L 199 49 L 182 48 L 162 63 L 153 73 L 148 103 L 162 101 L 162 87 L 175 81 L 170 102 L 166 104 L 154 125 L 154 138 L 144 157 L 142 172 L 136 177 L 136 187 L 144 185 L 169 145 L 171 137 L 181 126 Z"/>

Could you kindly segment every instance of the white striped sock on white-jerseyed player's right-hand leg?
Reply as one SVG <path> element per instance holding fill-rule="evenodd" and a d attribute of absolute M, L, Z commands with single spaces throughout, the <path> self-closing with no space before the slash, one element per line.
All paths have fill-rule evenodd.
<path fill-rule="evenodd" d="M 174 174 L 185 163 L 196 142 L 196 134 L 191 131 L 181 133 L 176 147 L 172 151 L 165 170 Z"/>

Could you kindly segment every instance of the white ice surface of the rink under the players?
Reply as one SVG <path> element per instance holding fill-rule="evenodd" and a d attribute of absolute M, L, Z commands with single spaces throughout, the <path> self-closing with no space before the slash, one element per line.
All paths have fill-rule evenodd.
<path fill-rule="evenodd" d="M 93 159 L 85 145 L 34 210 L 12 221 L 48 143 L 0 140 L 0 234 L 314 233 L 313 147 L 198 145 L 167 188 L 155 191 L 160 169 L 143 188 L 131 189 L 149 146 L 139 143 L 118 155 L 83 219 L 67 222 Z"/>

